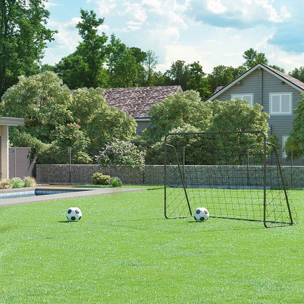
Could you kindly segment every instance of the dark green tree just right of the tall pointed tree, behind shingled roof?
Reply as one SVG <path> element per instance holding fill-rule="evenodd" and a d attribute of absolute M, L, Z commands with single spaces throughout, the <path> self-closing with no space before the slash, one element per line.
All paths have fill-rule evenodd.
<path fill-rule="evenodd" d="M 109 86 L 112 88 L 137 86 L 138 70 L 141 65 L 136 62 L 133 51 L 112 34 L 108 53 Z"/>

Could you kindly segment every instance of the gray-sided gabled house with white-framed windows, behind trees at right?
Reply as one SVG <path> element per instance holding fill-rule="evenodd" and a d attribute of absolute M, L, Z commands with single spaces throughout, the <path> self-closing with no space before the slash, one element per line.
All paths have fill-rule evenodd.
<path fill-rule="evenodd" d="M 276 134 L 281 146 L 292 129 L 293 110 L 304 92 L 304 83 L 265 64 L 258 63 L 223 87 L 217 87 L 208 100 L 246 99 L 251 105 L 259 103 L 269 113 L 270 133 Z M 282 148 L 278 150 L 281 164 L 285 160 Z M 303 161 L 294 162 L 303 164 Z"/>

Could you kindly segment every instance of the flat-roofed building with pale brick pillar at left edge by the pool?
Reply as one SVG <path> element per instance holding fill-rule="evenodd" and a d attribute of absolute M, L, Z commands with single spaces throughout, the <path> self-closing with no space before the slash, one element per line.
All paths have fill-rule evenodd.
<path fill-rule="evenodd" d="M 0 116 L 0 179 L 9 177 L 9 126 L 23 126 L 24 118 Z"/>

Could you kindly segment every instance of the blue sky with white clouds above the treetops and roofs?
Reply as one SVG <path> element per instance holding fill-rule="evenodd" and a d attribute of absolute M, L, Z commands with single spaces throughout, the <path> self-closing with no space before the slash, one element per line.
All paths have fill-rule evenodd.
<path fill-rule="evenodd" d="M 161 71 L 178 59 L 199 61 L 207 73 L 219 64 L 237 67 L 250 47 L 286 71 L 304 66 L 303 0 L 50 0 L 46 7 L 48 27 L 58 34 L 43 63 L 76 49 L 82 8 L 105 18 L 100 32 L 154 50 Z"/>

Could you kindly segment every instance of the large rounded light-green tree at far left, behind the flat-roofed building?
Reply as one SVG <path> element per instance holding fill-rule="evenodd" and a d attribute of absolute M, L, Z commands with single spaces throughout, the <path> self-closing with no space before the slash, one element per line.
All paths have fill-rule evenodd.
<path fill-rule="evenodd" d="M 42 142 L 50 142 L 56 126 L 71 121 L 72 93 L 53 72 L 19 77 L 19 82 L 2 96 L 1 115 L 24 118 L 19 130 Z"/>

